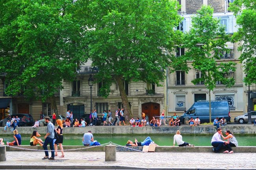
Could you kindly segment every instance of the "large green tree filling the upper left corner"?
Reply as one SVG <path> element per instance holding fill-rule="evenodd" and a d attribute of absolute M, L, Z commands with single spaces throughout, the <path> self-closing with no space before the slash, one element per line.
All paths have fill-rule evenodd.
<path fill-rule="evenodd" d="M 6 73 L 8 95 L 47 99 L 57 112 L 55 93 L 63 79 L 75 78 L 87 56 L 75 8 L 70 0 L 1 2 L 0 72 Z"/>

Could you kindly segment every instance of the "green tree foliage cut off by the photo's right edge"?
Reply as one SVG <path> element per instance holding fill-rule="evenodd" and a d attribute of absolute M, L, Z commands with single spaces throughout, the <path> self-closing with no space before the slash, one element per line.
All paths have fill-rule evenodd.
<path fill-rule="evenodd" d="M 241 42 L 238 48 L 242 51 L 239 58 L 247 75 L 244 82 L 247 85 L 256 83 L 256 2 L 255 0 L 235 0 L 230 8 L 236 15 L 238 31 L 233 35 L 233 41 Z"/>

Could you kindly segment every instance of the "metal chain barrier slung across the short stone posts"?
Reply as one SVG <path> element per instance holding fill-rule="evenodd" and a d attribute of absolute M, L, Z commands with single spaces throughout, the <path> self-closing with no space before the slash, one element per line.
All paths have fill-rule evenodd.
<path fill-rule="evenodd" d="M 130 147 L 127 147 L 127 146 L 122 146 L 120 144 L 116 144 L 116 143 L 112 143 L 112 142 L 104 143 L 104 144 L 97 145 L 97 146 L 105 146 L 107 144 L 115 144 L 116 146 L 121 146 L 121 147 L 127 148 L 129 150 L 134 150 L 134 151 L 137 151 L 137 152 L 142 152 L 141 150 L 137 150 L 137 149 L 130 148 Z M 16 149 L 21 149 L 21 150 L 30 150 L 30 151 L 43 151 L 43 152 L 45 152 L 45 151 L 48 151 L 48 152 L 55 151 L 55 150 L 41 150 L 41 149 L 20 148 L 20 147 L 17 147 L 17 146 L 9 146 L 9 145 L 6 145 L 6 146 L 8 146 L 10 148 L 16 148 Z M 64 149 L 63 151 L 83 150 L 83 149 L 94 148 L 94 147 L 97 147 L 97 146 L 88 146 L 86 148 L 76 148 L 76 149 Z M 58 151 L 61 151 L 61 150 L 58 150 Z"/>

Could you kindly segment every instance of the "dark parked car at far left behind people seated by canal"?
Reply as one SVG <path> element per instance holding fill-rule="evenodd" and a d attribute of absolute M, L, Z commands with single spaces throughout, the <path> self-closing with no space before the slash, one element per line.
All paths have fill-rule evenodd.
<path fill-rule="evenodd" d="M 19 126 L 32 126 L 34 124 L 34 119 L 32 117 L 32 115 L 30 114 L 24 114 L 24 113 L 19 113 L 19 114 L 13 114 L 13 115 L 9 115 L 8 117 L 6 117 L 5 119 L 2 119 L 0 121 L 0 126 L 5 126 L 6 125 L 6 122 L 9 120 L 11 121 L 11 118 L 12 117 L 15 117 L 18 116 L 20 118 L 20 122 L 19 122 Z M 22 117 L 25 116 L 26 119 L 25 119 L 25 122 L 22 122 Z"/>

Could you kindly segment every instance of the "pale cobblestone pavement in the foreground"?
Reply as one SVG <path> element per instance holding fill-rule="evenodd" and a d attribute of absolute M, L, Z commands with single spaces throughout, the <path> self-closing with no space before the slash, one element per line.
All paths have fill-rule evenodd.
<path fill-rule="evenodd" d="M 105 162 L 105 152 L 65 152 L 64 158 L 57 156 L 52 161 L 42 160 L 44 155 L 44 152 L 39 151 L 6 152 L 6 161 L 0 162 L 0 169 L 6 169 L 9 165 L 36 165 L 37 169 L 44 169 L 42 167 L 46 165 L 66 166 L 59 169 L 67 169 L 67 166 L 72 166 L 70 169 L 76 166 L 89 169 L 94 169 L 93 166 L 110 169 L 111 166 L 143 169 L 256 169 L 255 153 L 117 152 L 115 162 Z"/>

